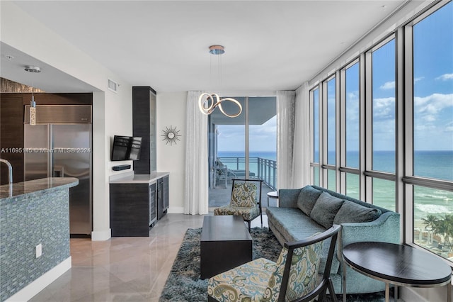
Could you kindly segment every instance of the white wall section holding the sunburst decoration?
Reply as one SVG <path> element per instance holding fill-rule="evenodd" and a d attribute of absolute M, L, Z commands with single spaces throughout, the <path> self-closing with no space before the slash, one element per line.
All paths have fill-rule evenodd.
<path fill-rule="evenodd" d="M 184 211 L 185 111 L 187 91 L 157 93 L 157 171 L 170 172 L 168 213 Z M 170 126 L 180 130 L 176 145 L 163 141 L 162 130 Z"/>

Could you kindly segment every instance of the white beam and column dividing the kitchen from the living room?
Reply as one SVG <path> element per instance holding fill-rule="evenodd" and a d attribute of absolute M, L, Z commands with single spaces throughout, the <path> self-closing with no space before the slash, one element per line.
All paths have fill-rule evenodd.
<path fill-rule="evenodd" d="M 116 133 L 132 135 L 132 85 L 15 4 L 1 1 L 0 13 L 2 42 L 98 89 L 93 94 L 92 239 L 107 240 L 110 237 L 108 177 L 113 174 L 109 162 L 110 138 Z M 108 78 L 121 84 L 117 94 L 108 90 Z"/>

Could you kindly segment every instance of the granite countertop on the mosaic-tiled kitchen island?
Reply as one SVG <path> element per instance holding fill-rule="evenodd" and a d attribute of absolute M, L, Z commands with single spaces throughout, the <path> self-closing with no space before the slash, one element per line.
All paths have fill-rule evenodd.
<path fill-rule="evenodd" d="M 38 191 L 55 191 L 55 189 L 66 189 L 79 184 L 75 177 L 48 177 L 34 179 L 0 186 L 0 199 L 31 194 Z"/>

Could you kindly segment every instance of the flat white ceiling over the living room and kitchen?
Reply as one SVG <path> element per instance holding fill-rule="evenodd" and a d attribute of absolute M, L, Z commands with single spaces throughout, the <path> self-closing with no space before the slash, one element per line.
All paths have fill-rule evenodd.
<path fill-rule="evenodd" d="M 275 91 L 312 79 L 406 1 L 13 2 L 132 86 Z M 217 44 L 225 47 L 220 86 L 210 67 L 218 57 L 208 52 Z M 33 60 L 2 43 L 1 77 L 30 84 L 22 67 Z M 35 61 L 45 66 L 40 89 L 94 89 Z"/>

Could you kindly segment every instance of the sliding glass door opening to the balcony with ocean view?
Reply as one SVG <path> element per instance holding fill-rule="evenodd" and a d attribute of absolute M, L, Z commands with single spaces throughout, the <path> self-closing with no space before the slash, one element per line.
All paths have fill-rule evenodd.
<path fill-rule="evenodd" d="M 236 118 L 214 111 L 209 118 L 211 207 L 229 203 L 232 179 L 258 178 L 274 191 L 277 177 L 277 116 L 275 96 L 235 97 L 243 111 Z M 222 103 L 234 113 L 231 102 Z"/>

